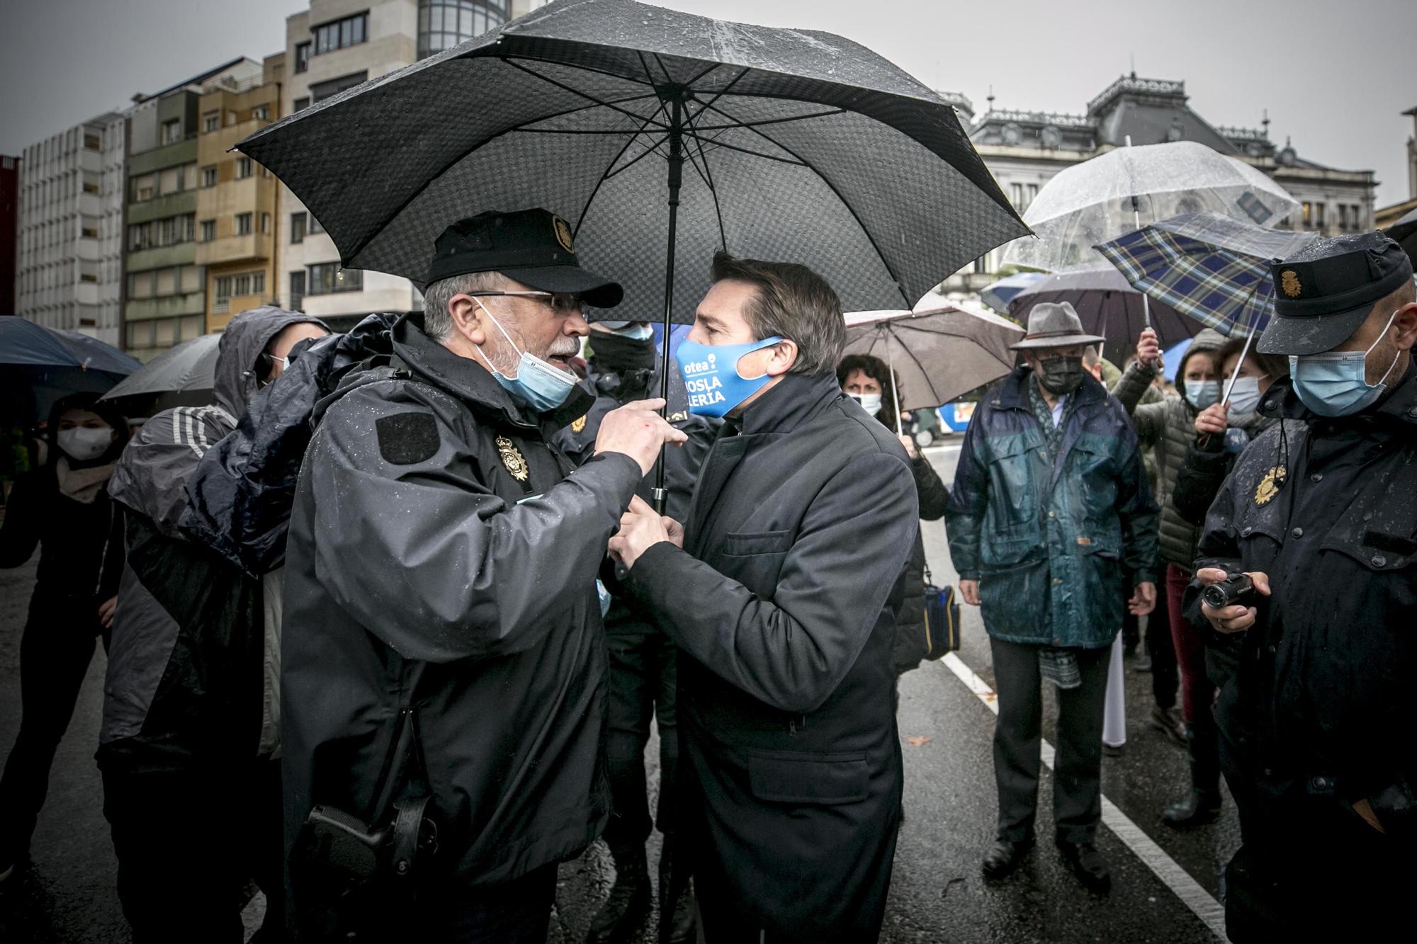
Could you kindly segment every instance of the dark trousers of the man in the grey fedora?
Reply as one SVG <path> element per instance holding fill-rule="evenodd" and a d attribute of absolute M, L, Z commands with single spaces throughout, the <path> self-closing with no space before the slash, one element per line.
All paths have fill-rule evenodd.
<path fill-rule="evenodd" d="M 999 787 L 998 838 L 1033 838 L 1043 738 L 1043 678 L 1039 646 L 989 638 L 999 720 L 993 729 L 993 775 Z M 1058 689 L 1053 819 L 1058 839 L 1091 842 L 1102 816 L 1102 712 L 1111 646 L 1074 649 L 1083 683 Z"/>

